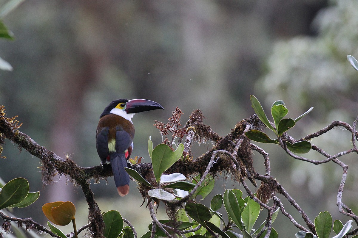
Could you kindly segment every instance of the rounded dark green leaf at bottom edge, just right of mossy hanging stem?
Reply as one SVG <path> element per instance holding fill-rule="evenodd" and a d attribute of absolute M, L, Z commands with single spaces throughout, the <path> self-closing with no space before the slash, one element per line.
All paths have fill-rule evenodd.
<path fill-rule="evenodd" d="M 111 210 L 103 214 L 105 229 L 103 235 L 106 238 L 117 238 L 123 230 L 123 218 L 118 211 Z"/>

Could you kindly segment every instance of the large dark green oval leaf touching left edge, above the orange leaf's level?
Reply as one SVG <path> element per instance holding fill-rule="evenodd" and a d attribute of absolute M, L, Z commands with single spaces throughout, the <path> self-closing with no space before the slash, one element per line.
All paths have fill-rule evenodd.
<path fill-rule="evenodd" d="M 24 178 L 14 178 L 6 183 L 0 193 L 0 210 L 22 202 L 29 193 L 29 182 Z"/>

